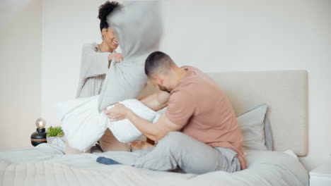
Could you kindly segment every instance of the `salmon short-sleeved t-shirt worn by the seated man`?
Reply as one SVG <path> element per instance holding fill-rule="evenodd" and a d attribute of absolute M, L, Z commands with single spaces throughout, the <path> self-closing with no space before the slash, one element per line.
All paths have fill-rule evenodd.
<path fill-rule="evenodd" d="M 240 167 L 245 169 L 243 135 L 226 94 L 201 70 L 191 66 L 182 69 L 187 73 L 170 92 L 165 116 L 200 142 L 236 151 Z"/>

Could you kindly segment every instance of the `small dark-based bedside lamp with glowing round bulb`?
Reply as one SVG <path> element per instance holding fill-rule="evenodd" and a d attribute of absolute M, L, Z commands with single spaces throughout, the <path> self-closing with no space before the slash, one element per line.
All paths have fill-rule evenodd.
<path fill-rule="evenodd" d="M 36 132 L 31 135 L 31 144 L 37 146 L 41 143 L 47 143 L 46 139 L 46 120 L 44 118 L 38 118 L 35 121 L 35 126 L 37 127 Z"/>

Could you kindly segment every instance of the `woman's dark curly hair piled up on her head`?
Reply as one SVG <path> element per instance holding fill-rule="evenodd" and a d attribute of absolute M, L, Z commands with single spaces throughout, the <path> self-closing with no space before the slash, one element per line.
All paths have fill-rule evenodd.
<path fill-rule="evenodd" d="M 116 1 L 105 1 L 104 4 L 102 4 L 101 6 L 99 6 L 99 15 L 98 18 L 100 19 L 100 30 L 102 31 L 103 28 L 108 28 L 109 25 L 107 23 L 107 16 L 110 15 L 110 13 L 112 13 L 112 11 L 114 11 L 117 8 L 121 8 L 122 5 L 119 4 Z"/>

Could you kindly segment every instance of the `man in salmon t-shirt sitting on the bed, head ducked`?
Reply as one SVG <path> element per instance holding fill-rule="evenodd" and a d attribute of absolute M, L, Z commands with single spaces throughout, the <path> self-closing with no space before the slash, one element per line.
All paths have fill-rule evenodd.
<path fill-rule="evenodd" d="M 226 94 L 197 68 L 179 68 L 167 54 L 148 56 L 145 73 L 160 91 L 141 101 L 158 111 L 157 123 L 139 118 L 122 104 L 105 111 L 112 120 L 129 119 L 156 147 L 137 159 L 135 167 L 185 173 L 234 172 L 246 168 L 243 136 Z"/>

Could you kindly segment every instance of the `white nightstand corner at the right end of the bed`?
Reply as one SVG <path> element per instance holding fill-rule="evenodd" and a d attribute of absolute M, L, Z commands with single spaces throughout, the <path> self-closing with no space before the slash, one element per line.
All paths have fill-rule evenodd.
<path fill-rule="evenodd" d="M 330 186 L 331 185 L 331 163 L 318 166 L 309 173 L 310 186 Z"/>

